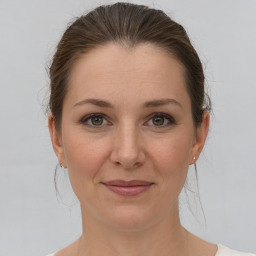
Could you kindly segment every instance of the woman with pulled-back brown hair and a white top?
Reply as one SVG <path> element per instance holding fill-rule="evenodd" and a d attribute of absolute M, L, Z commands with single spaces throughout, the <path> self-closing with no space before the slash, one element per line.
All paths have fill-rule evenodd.
<path fill-rule="evenodd" d="M 182 26 L 134 4 L 64 33 L 50 67 L 49 130 L 83 233 L 55 256 L 252 255 L 182 227 L 178 196 L 209 128 L 199 57 Z"/>

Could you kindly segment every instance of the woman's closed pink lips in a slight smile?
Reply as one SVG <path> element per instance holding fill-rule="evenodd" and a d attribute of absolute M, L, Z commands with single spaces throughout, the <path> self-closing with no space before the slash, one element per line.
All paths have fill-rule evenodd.
<path fill-rule="evenodd" d="M 102 184 L 118 195 L 137 196 L 147 191 L 154 183 L 141 180 L 112 180 Z"/>

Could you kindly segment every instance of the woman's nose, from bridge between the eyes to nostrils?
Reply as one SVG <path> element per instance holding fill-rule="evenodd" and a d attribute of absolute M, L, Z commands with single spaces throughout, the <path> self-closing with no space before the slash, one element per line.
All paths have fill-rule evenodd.
<path fill-rule="evenodd" d="M 113 138 L 110 159 L 124 169 L 134 169 L 145 161 L 140 132 L 132 125 L 123 125 L 116 129 Z"/>

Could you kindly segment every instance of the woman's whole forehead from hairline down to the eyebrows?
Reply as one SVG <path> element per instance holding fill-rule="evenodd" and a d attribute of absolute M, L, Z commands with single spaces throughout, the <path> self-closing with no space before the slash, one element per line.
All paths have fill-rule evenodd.
<path fill-rule="evenodd" d="M 186 98 L 184 67 L 170 53 L 152 44 L 133 48 L 109 43 L 82 55 L 72 67 L 68 97 L 151 100 L 167 95 Z M 181 99 L 179 99 L 181 100 Z"/>

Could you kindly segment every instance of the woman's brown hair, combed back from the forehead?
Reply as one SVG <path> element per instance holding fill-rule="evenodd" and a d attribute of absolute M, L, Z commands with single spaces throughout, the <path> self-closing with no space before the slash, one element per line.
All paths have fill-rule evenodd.
<path fill-rule="evenodd" d="M 211 108 L 210 99 L 204 91 L 201 61 L 184 28 L 161 10 L 116 3 L 99 6 L 76 19 L 58 43 L 49 72 L 49 108 L 57 130 L 60 131 L 62 106 L 72 65 L 82 54 L 108 42 L 128 47 L 152 43 L 175 56 L 185 67 L 194 124 L 198 126 L 202 122 L 203 112 Z"/>

